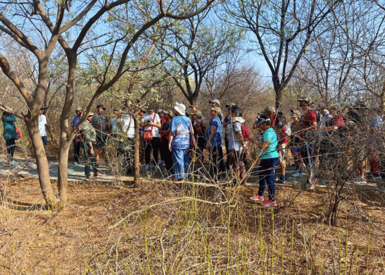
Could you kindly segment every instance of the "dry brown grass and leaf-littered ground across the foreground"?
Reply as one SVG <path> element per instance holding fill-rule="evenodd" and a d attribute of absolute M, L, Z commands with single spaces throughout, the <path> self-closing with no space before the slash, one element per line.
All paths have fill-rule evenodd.
<path fill-rule="evenodd" d="M 384 274 L 380 191 L 345 192 L 330 226 L 324 190 L 279 187 L 272 210 L 243 186 L 78 183 L 52 212 L 38 181 L 2 183 L 0 274 Z"/>

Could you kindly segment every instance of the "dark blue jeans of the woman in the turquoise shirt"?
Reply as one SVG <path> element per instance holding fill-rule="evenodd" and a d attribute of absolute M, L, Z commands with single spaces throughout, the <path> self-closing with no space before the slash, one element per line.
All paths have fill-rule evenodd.
<path fill-rule="evenodd" d="M 261 159 L 259 164 L 259 190 L 258 195 L 263 197 L 265 192 L 266 184 L 269 189 L 270 201 L 276 200 L 276 185 L 274 184 L 274 167 L 278 164 L 279 157 L 273 157 L 272 159 Z"/>

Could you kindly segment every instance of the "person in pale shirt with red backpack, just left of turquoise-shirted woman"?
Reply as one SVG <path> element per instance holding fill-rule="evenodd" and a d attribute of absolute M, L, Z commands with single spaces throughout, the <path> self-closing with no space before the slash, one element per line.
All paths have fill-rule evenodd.
<path fill-rule="evenodd" d="M 243 155 L 247 150 L 246 140 L 243 138 L 242 124 L 245 122 L 241 118 L 241 109 L 235 104 L 230 108 L 230 122 L 226 126 L 225 132 L 228 136 L 228 164 L 234 170 L 233 184 L 241 184 L 245 181 L 246 169 L 243 162 Z"/>

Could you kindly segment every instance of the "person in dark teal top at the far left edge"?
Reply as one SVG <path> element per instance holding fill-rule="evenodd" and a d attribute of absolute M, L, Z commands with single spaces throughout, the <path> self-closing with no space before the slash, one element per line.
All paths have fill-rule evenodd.
<path fill-rule="evenodd" d="M 5 144 L 7 144 L 7 153 L 8 153 L 8 162 L 11 166 L 16 166 L 17 162 L 14 161 L 14 149 L 16 148 L 16 140 L 19 140 L 16 131 L 16 118 L 12 113 L 3 112 L 1 116 L 1 121 L 3 122 L 3 137 Z"/>

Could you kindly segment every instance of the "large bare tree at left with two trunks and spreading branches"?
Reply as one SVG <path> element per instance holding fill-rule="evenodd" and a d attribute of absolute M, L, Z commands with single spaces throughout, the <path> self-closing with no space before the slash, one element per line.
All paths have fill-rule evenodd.
<path fill-rule="evenodd" d="M 102 60 L 104 61 L 103 71 L 98 72 L 97 70 L 100 81 L 87 104 L 86 115 L 80 124 L 85 122 L 87 114 L 100 94 L 111 88 L 120 77 L 129 71 L 126 64 L 132 57 L 131 49 L 148 28 L 162 23 L 164 19 L 181 20 L 194 17 L 210 7 L 213 1 L 206 1 L 202 5 L 199 5 L 199 1 L 197 3 L 194 0 L 170 5 L 164 1 L 155 1 L 150 5 L 147 2 L 130 0 L 103 1 L 102 3 L 97 0 L 73 1 L 72 9 L 76 7 L 74 13 L 67 12 L 69 10 L 67 4 L 70 1 L 60 1 L 59 3 L 38 0 L 22 3 L 8 1 L 0 4 L 1 35 L 8 36 L 14 43 L 27 49 L 31 56 L 36 58 L 39 69 L 36 72 L 35 90 L 28 89 L 23 80 L 15 73 L 17 66 L 10 63 L 5 55 L 0 54 L 3 74 L 17 87 L 28 110 L 25 112 L 13 111 L 6 102 L 3 102 L 0 107 L 17 115 L 27 125 L 36 155 L 41 190 L 48 205 L 54 207 L 62 204 L 55 197 L 52 189 L 47 157 L 38 127 L 39 108 L 47 93 L 52 54 L 63 51 L 67 57 L 66 91 L 60 120 L 61 136 L 58 156 L 58 197 L 66 201 L 68 151 L 76 135 L 76 132 L 69 131 L 69 117 L 76 94 L 78 61 L 81 61 L 82 54 L 92 51 L 95 48 L 94 45 L 103 46 L 106 51 Z M 113 24 L 109 24 L 115 19 L 113 12 L 119 8 L 124 8 L 129 16 L 126 18 L 126 33 L 123 36 L 120 35 L 120 32 L 113 32 Z M 146 14 L 145 17 L 142 16 L 143 13 Z M 118 60 L 117 55 L 119 62 L 114 63 Z M 12 68 L 13 66 L 14 68 Z"/>

